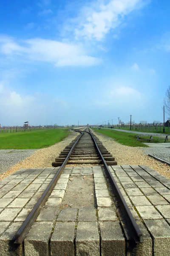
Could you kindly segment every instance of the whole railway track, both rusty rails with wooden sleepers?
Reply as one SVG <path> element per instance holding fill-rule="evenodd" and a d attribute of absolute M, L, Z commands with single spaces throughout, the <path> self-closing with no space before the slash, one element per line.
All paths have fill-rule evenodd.
<path fill-rule="evenodd" d="M 116 161 L 113 160 L 114 157 L 107 151 L 107 149 L 102 145 L 102 143 L 91 133 L 89 129 L 84 131 L 77 130 L 80 136 L 76 140 L 73 140 L 70 145 L 68 145 L 60 154 L 60 157 L 57 158 L 57 161 L 52 163 L 52 166 L 60 166 L 59 170 L 55 174 L 54 178 L 49 183 L 48 187 L 43 192 L 40 199 L 35 204 L 34 208 L 31 210 L 26 220 L 23 222 L 19 230 L 15 235 L 16 244 L 22 244 L 27 233 L 29 232 L 31 226 L 34 224 L 37 216 L 39 215 L 42 207 L 47 201 L 49 195 L 54 189 L 54 186 L 57 183 L 63 169 L 66 164 L 75 164 L 75 163 L 96 163 L 102 164 L 105 169 L 106 175 L 108 177 L 111 189 L 113 190 L 113 195 L 116 196 L 116 201 L 119 208 L 119 214 L 125 225 L 125 230 L 127 231 L 127 239 L 131 242 L 141 242 L 142 241 L 142 232 L 136 224 L 135 219 L 133 218 L 130 209 L 128 208 L 125 199 L 123 198 L 120 189 L 118 188 L 110 170 L 108 164 L 116 165 Z M 63 157 L 64 156 L 64 157 Z M 87 160 L 89 157 L 93 158 L 90 161 Z M 83 160 L 82 160 L 83 159 Z"/>

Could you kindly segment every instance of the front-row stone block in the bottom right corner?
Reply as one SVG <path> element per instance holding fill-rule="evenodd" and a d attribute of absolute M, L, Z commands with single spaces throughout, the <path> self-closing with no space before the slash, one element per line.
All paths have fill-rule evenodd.
<path fill-rule="evenodd" d="M 170 226 L 165 220 L 145 220 L 148 230 L 153 236 L 153 255 L 170 255 Z"/>

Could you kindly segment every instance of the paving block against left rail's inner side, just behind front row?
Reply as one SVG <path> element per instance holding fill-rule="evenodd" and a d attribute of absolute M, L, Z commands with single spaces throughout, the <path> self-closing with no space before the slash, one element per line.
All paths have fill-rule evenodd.
<path fill-rule="evenodd" d="M 54 221 L 58 214 L 59 211 L 55 208 L 42 209 L 37 217 L 37 221 Z"/>

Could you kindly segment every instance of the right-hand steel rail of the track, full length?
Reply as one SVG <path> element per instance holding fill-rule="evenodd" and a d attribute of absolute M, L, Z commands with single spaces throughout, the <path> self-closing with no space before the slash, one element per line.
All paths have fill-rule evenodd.
<path fill-rule="evenodd" d="M 91 133 L 91 131 L 90 131 L 90 133 Z M 130 209 L 127 206 L 127 203 L 126 203 L 125 199 L 123 198 L 122 193 L 120 192 L 120 189 L 119 189 L 119 187 L 116 184 L 116 181 L 114 180 L 113 176 L 111 175 L 111 171 L 109 170 L 108 165 L 106 164 L 105 159 L 102 156 L 102 153 L 100 152 L 100 150 L 99 150 L 99 148 L 97 146 L 96 140 L 94 139 L 94 136 L 93 136 L 92 133 L 91 133 L 91 137 L 92 137 L 92 139 L 94 141 L 94 144 L 95 144 L 95 146 L 97 148 L 99 156 L 102 159 L 102 164 L 103 164 L 103 166 L 105 168 L 105 171 L 107 172 L 107 175 L 108 175 L 109 181 L 111 183 L 113 192 L 116 194 L 116 198 L 118 200 L 118 203 L 119 203 L 119 205 L 121 207 L 121 211 L 122 211 L 122 213 L 124 215 L 124 218 L 126 220 L 126 227 L 128 228 L 128 239 L 132 240 L 132 241 L 135 241 L 136 243 L 137 242 L 143 242 L 142 232 L 139 229 L 138 225 L 136 224 L 136 221 L 133 218 L 133 215 L 130 212 Z"/>

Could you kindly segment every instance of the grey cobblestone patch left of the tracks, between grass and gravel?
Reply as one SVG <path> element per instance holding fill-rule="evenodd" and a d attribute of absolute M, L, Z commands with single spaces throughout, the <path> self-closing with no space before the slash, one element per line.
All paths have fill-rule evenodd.
<path fill-rule="evenodd" d="M 31 156 L 37 149 L 1 149 L 0 173 L 6 172 L 14 164 Z"/>

